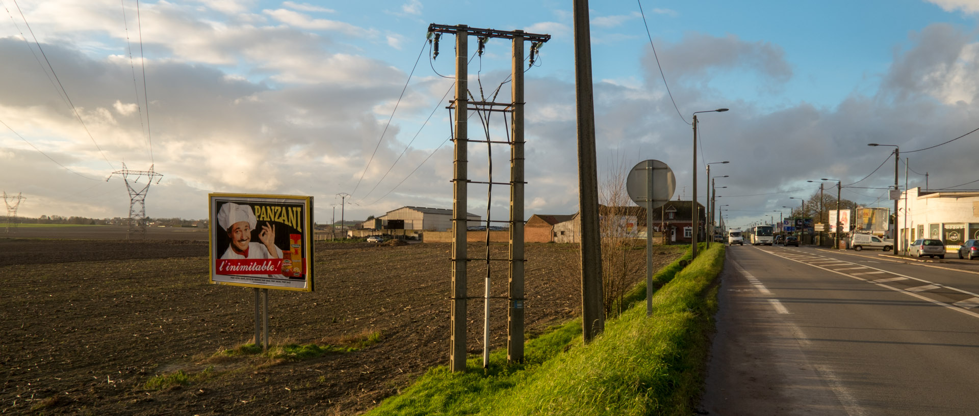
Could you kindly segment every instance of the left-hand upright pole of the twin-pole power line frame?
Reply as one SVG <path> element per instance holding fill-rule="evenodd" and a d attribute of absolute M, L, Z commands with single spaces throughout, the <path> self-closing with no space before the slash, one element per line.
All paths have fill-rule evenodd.
<path fill-rule="evenodd" d="M 452 160 L 452 317 L 450 363 L 452 371 L 466 369 L 466 196 L 468 180 L 469 34 L 465 25 L 455 33 L 455 145 Z"/>

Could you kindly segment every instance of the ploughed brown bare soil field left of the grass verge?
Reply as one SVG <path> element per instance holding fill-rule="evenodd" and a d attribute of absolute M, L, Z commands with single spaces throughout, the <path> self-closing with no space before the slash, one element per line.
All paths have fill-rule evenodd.
<path fill-rule="evenodd" d="M 304 360 L 215 355 L 252 342 L 254 293 L 208 283 L 207 244 L 0 238 L 0 412 L 352 415 L 448 361 L 449 244 L 317 243 L 315 292 L 269 290 L 270 343 L 382 337 Z M 505 245 L 490 251 L 506 258 Z M 657 269 L 670 253 L 655 257 Z M 527 246 L 528 333 L 580 314 L 578 257 L 577 245 Z M 493 264 L 493 296 L 506 294 L 505 265 Z M 469 265 L 469 296 L 482 296 L 485 275 Z M 505 300 L 491 307 L 490 347 L 505 348 Z M 469 302 L 471 353 L 483 347 L 482 311 Z M 177 370 L 197 377 L 146 388 Z"/>

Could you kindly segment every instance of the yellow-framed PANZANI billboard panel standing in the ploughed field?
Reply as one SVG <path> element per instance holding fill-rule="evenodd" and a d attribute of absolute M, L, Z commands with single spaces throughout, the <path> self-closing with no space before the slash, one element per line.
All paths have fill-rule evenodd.
<path fill-rule="evenodd" d="M 312 196 L 210 193 L 210 283 L 311 292 Z"/>

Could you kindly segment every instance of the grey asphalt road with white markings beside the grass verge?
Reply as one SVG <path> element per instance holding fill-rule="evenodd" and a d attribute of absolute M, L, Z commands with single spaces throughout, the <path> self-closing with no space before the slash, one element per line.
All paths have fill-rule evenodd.
<path fill-rule="evenodd" d="M 979 261 L 882 254 L 730 247 L 701 412 L 979 414 Z"/>

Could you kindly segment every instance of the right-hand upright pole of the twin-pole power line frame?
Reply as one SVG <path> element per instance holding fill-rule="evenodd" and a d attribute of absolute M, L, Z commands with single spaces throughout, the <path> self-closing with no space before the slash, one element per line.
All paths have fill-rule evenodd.
<path fill-rule="evenodd" d="M 522 32 L 517 30 L 517 32 Z M 524 36 L 513 37 L 510 93 L 510 281 L 506 359 L 524 360 Z"/>

